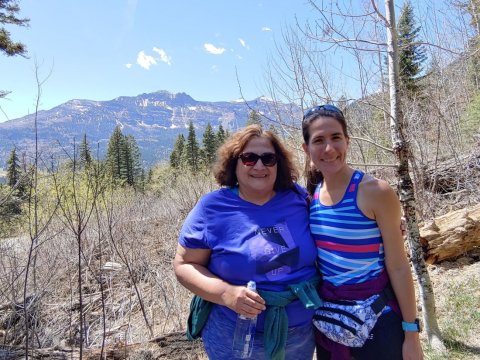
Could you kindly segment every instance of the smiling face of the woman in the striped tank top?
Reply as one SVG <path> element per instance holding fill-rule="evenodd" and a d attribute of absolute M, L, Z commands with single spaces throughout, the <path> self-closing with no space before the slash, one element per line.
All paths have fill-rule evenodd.
<path fill-rule="evenodd" d="M 309 134 L 309 142 L 303 144 L 303 149 L 323 176 L 338 173 L 347 166 L 349 138 L 340 122 L 330 116 L 319 116 L 310 123 Z"/>

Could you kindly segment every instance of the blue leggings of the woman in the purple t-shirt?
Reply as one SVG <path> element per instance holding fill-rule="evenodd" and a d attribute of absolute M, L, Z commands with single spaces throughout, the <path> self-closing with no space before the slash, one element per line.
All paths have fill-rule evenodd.
<path fill-rule="evenodd" d="M 232 354 L 234 331 L 235 322 L 214 306 L 202 330 L 203 345 L 210 360 L 234 359 Z M 256 332 L 251 359 L 265 359 L 263 335 L 261 331 Z M 314 349 L 315 339 L 311 323 L 288 329 L 285 360 L 312 360 Z"/>

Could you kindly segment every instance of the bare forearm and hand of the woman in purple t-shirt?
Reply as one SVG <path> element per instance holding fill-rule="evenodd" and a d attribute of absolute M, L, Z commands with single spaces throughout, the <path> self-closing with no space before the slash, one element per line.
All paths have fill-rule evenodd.
<path fill-rule="evenodd" d="M 265 310 L 265 301 L 245 286 L 231 285 L 208 268 L 211 250 L 177 246 L 173 268 L 178 281 L 205 300 L 227 306 L 241 315 L 253 317 Z"/>

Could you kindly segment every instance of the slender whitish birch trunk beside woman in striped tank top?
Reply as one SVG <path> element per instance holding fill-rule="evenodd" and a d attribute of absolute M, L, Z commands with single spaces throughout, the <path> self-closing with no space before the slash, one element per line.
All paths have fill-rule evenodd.
<path fill-rule="evenodd" d="M 403 212 L 407 218 L 408 226 L 408 244 L 410 255 L 418 280 L 418 289 L 420 302 L 422 305 L 422 315 L 424 331 L 427 334 L 430 345 L 435 350 L 445 349 L 438 328 L 435 315 L 435 298 L 433 287 L 430 281 L 423 251 L 420 246 L 420 231 L 418 228 L 417 215 L 415 210 L 415 193 L 413 182 L 409 173 L 408 158 L 410 149 L 403 133 L 404 118 L 401 107 L 399 69 L 398 69 L 398 49 L 397 49 L 397 30 L 394 13 L 394 0 L 385 0 L 385 15 L 387 19 L 387 43 L 388 43 L 388 77 L 390 92 L 390 131 L 392 136 L 392 145 L 398 160 L 398 192 L 402 203 Z"/>

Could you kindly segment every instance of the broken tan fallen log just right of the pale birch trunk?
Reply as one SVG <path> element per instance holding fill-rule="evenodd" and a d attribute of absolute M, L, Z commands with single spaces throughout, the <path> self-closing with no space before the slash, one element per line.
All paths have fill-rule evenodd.
<path fill-rule="evenodd" d="M 420 229 L 420 244 L 428 264 L 480 249 L 480 204 L 429 221 Z"/>

